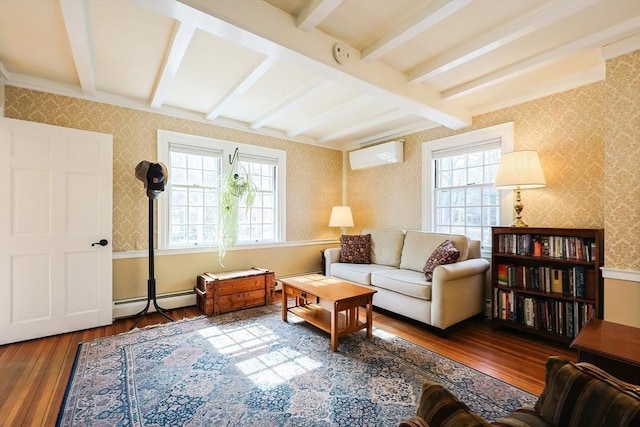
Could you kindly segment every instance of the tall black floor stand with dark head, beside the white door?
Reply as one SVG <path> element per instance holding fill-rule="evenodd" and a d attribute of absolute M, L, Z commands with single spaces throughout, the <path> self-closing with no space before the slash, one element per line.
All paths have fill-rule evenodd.
<path fill-rule="evenodd" d="M 136 178 L 143 182 L 144 187 L 147 189 L 147 197 L 149 198 L 149 279 L 147 280 L 147 305 L 141 312 L 135 315 L 136 321 L 133 322 L 131 329 L 135 328 L 138 322 L 147 314 L 151 307 L 151 302 L 153 302 L 153 306 L 158 313 L 173 322 L 173 319 L 167 314 L 169 310 L 160 307 L 156 299 L 153 254 L 153 201 L 164 191 L 164 186 L 169 180 L 169 174 L 164 164 L 151 163 L 143 160 L 136 166 Z"/>

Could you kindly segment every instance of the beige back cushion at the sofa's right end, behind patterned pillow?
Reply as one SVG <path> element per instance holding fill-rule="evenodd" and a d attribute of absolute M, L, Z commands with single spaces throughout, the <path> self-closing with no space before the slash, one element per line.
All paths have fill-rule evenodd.
<path fill-rule="evenodd" d="M 458 261 L 464 261 L 469 254 L 469 238 L 457 234 L 427 233 L 424 231 L 407 231 L 400 258 L 400 268 L 422 272 L 424 264 L 433 251 L 445 240 L 450 240 L 460 251 Z"/>

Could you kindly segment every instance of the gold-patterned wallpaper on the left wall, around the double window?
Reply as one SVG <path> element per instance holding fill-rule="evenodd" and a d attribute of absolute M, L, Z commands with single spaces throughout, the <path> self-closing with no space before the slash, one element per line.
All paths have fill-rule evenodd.
<path fill-rule="evenodd" d="M 113 135 L 114 252 L 147 249 L 148 199 L 134 168 L 157 159 L 157 129 L 285 150 L 287 241 L 337 235 L 327 224 L 342 201 L 340 151 L 12 86 L 5 88 L 5 117 Z"/>

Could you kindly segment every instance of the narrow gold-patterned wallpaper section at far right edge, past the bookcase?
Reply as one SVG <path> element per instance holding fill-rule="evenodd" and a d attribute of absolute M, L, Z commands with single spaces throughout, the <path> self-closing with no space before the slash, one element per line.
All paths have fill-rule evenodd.
<path fill-rule="evenodd" d="M 605 265 L 640 271 L 640 51 L 607 62 Z"/>

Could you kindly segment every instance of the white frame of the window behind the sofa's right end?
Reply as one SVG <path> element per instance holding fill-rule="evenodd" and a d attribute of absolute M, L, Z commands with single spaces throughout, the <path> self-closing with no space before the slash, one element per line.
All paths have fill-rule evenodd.
<path fill-rule="evenodd" d="M 503 123 L 484 129 L 448 136 L 422 143 L 422 229 L 434 230 L 433 206 L 435 194 L 434 153 L 444 149 L 456 149 L 482 145 L 488 140 L 500 139 L 502 154 L 513 151 L 513 122 Z M 512 217 L 513 192 L 500 191 L 500 218 L 498 224 Z M 511 221 L 508 221 L 509 223 Z M 488 249 L 488 248 L 487 248 Z M 483 256 L 489 255 L 483 250 Z"/>

